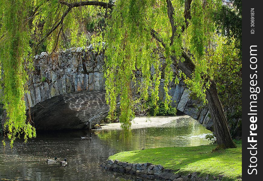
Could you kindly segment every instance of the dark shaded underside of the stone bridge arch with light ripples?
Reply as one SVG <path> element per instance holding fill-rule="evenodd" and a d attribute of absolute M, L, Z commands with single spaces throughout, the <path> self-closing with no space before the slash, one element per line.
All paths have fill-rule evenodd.
<path fill-rule="evenodd" d="M 104 119 L 109 112 L 105 91 L 78 91 L 63 94 L 31 107 L 31 119 L 37 130 L 88 129 Z"/>

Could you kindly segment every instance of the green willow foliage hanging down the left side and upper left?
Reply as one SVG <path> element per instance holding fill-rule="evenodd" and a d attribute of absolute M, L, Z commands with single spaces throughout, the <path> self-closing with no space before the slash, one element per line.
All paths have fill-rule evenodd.
<path fill-rule="evenodd" d="M 72 8 L 58 0 L 0 0 L 0 65 L 2 69 L 4 109 L 8 119 L 10 146 L 24 134 L 24 141 L 36 137 L 31 120 L 27 120 L 24 94 L 28 73 L 33 70 L 33 55 L 44 44 L 48 52 L 68 46 L 86 46 L 85 19 L 105 10 L 95 6 Z M 69 3 L 78 1 L 67 1 Z M 59 22 L 62 23 L 59 24 Z M 51 31 L 56 25 L 57 28 Z M 49 33 L 51 32 L 51 33 Z M 33 55 L 32 55 L 33 54 Z M 3 141 L 5 145 L 5 142 Z"/>

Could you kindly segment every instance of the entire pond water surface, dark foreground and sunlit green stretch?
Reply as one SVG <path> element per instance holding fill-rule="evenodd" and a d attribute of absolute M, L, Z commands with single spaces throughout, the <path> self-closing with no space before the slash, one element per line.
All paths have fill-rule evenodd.
<path fill-rule="evenodd" d="M 92 139 L 80 136 L 92 134 Z M 106 171 L 99 165 L 120 151 L 171 146 L 208 144 L 210 133 L 196 120 L 181 116 L 162 127 L 133 129 L 128 144 L 121 130 L 37 132 L 37 138 L 24 144 L 16 140 L 14 148 L 0 145 L 0 180 L 140 180 L 132 175 Z M 3 139 L 0 137 L 0 139 Z M 8 141 L 7 141 L 8 145 Z M 48 164 L 45 159 L 67 158 L 67 166 Z"/>

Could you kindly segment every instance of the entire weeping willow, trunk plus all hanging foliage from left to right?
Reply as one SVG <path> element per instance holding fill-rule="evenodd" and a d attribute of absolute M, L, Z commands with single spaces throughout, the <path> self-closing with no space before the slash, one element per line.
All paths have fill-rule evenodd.
<path fill-rule="evenodd" d="M 136 100 L 132 99 L 131 85 L 140 84 L 138 91 L 141 99 L 147 100 L 150 94 L 157 107 L 161 80 L 159 56 L 163 55 L 165 104 L 168 105 L 171 101 L 169 82 L 173 81 L 173 64 L 179 70 L 176 77 L 184 77 L 193 93 L 208 104 L 218 146 L 235 147 L 214 81 L 217 65 L 224 61 L 224 55 L 216 53 L 222 48 L 222 43 L 218 42 L 226 41 L 224 37 L 215 33 L 216 25 L 213 21 L 216 11 L 222 8 L 221 1 L 117 0 L 113 5 L 109 1 L 20 0 L 13 2 L 17 9 L 7 5 L 12 4 L 11 1 L 2 2 L 1 33 L 2 37 L 7 37 L 8 40 L 2 43 L 6 48 L 1 50 L 1 61 L 5 62 L 5 56 L 13 60 L 13 66 L 2 64 L 5 108 L 8 112 L 8 122 L 13 122 L 14 125 L 9 129 L 9 138 L 12 140 L 18 133 L 15 131 L 16 126 L 19 132 L 26 128 L 23 130 L 26 133 L 25 137 L 35 136 L 34 128 L 30 127 L 30 122 L 22 116 L 25 109 L 23 93 L 26 90 L 26 74 L 23 68 L 26 68 L 25 62 L 30 57 L 31 49 L 45 44 L 47 50 L 52 53 L 69 45 L 85 46 L 86 37 L 81 25 L 90 14 L 95 14 L 106 19 L 106 27 L 93 37 L 96 50 L 104 49 L 106 55 L 106 101 L 110 105 L 110 112 L 113 113 L 117 97 L 120 96 L 120 122 L 125 138 L 129 136 L 131 120 L 135 116 L 132 108 Z M 18 6 L 22 5 L 22 10 L 19 10 Z M 14 17 L 12 13 L 18 17 Z M 8 24 L 11 21 L 14 22 L 12 27 Z M 23 28 L 14 30 L 14 27 Z M 28 32 L 31 36 L 23 32 Z M 23 41 L 16 41 L 16 33 L 23 34 Z M 67 34 L 70 34 L 70 38 L 67 38 Z M 106 42 L 104 46 L 102 42 Z M 12 52 L 8 50 L 11 45 L 14 45 L 13 50 L 19 55 L 12 56 Z M 20 71 L 17 71 L 18 69 Z M 140 83 L 135 81 L 135 71 L 138 70 L 142 72 L 143 77 Z M 151 70 L 154 70 L 153 75 Z M 19 73 L 20 76 L 12 76 L 11 72 L 15 72 L 15 75 Z M 8 81 L 8 77 L 11 81 Z M 178 78 L 175 81 L 178 83 Z M 12 86 L 14 82 L 19 84 L 15 83 L 16 86 Z M 13 103 L 6 95 L 18 90 L 20 97 Z M 18 105 L 21 105 L 19 109 Z M 23 124 L 20 124 L 18 117 Z"/>

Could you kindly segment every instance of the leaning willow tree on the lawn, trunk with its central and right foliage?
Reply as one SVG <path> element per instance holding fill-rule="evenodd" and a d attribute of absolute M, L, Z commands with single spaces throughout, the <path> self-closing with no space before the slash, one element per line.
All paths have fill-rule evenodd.
<path fill-rule="evenodd" d="M 171 64 L 180 69 L 190 89 L 208 103 L 214 123 L 217 143 L 222 148 L 234 148 L 226 116 L 217 95 L 213 75 L 216 64 L 223 56 L 215 52 L 218 42 L 226 41 L 215 33 L 215 12 L 222 8 L 218 0 L 143 0 L 117 1 L 111 18 L 107 21 L 106 35 L 106 99 L 111 111 L 120 95 L 122 129 L 128 133 L 131 127 L 132 100 L 130 81 L 135 83 L 134 72 L 138 69 L 144 78 L 141 97 L 151 98 L 156 104 L 160 84 L 160 60 L 165 56 L 164 90 L 165 103 L 170 103 L 169 81 L 172 81 Z M 155 74 L 151 77 L 151 67 Z M 178 83 L 178 79 L 175 80 Z M 127 135 L 128 136 L 128 135 Z"/>

